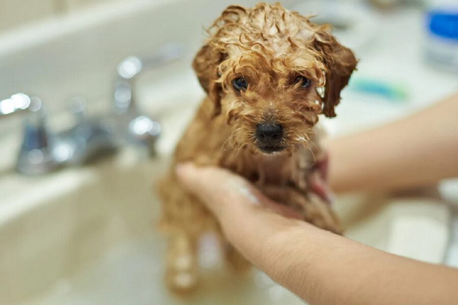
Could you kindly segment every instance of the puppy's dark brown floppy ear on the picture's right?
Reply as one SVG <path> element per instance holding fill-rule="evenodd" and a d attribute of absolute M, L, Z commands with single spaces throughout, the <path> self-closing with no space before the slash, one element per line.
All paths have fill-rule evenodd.
<path fill-rule="evenodd" d="M 314 47 L 323 56 L 326 66 L 325 96 L 323 113 L 327 117 L 335 116 L 334 107 L 340 102 L 340 91 L 348 84 L 358 60 L 353 52 L 342 46 L 328 31 L 321 26 L 316 32 Z"/>

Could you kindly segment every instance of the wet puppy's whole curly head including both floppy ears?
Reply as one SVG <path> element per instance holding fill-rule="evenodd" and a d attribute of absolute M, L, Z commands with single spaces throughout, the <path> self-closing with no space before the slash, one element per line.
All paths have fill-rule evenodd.
<path fill-rule="evenodd" d="M 327 26 L 280 5 L 228 7 L 209 32 L 193 67 L 235 148 L 279 153 L 304 144 L 318 114 L 335 115 L 356 67 Z"/>

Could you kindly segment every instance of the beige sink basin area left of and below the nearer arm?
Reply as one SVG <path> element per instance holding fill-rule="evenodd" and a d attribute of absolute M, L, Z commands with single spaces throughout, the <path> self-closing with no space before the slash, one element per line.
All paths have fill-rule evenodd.
<path fill-rule="evenodd" d="M 27 189 L 0 201 L 0 303 L 182 303 L 164 286 L 165 238 L 156 229 L 153 185 L 169 158 L 137 153 L 126 148 L 92 166 L 0 180 Z M 203 240 L 204 281 L 189 303 L 301 303 L 260 271 L 225 272 L 212 240 Z"/>

